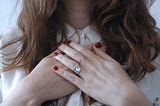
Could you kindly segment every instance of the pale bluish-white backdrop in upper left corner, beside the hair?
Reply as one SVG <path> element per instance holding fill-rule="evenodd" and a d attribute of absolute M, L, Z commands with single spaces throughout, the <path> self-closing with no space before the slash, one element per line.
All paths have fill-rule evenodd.
<path fill-rule="evenodd" d="M 17 24 L 23 0 L 0 0 L 0 35 Z"/>

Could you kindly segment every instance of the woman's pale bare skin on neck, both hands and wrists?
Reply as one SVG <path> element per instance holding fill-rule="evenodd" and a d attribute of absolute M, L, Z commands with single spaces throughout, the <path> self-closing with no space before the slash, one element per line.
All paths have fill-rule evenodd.
<path fill-rule="evenodd" d="M 85 11 L 90 5 L 90 0 L 66 1 L 68 13 L 66 21 L 76 29 L 83 29 L 90 23 L 89 13 Z M 80 51 L 82 49 L 83 53 Z M 79 55 L 75 57 L 74 52 L 71 53 L 70 50 Z M 60 51 L 65 52 L 66 55 L 61 55 Z M 40 106 L 42 102 L 70 94 L 78 87 L 103 104 L 150 106 L 143 93 L 129 79 L 121 65 L 107 54 L 96 49 L 94 44 L 85 48 L 74 42 L 69 46 L 62 44 L 56 52 L 59 55 L 55 57 L 49 55 L 42 59 L 32 70 L 32 73 L 20 82 L 1 105 Z M 95 58 L 90 58 L 89 54 Z M 86 57 L 87 62 L 83 62 L 83 56 Z M 71 57 L 72 60 L 68 57 Z M 60 58 L 67 60 L 60 61 Z M 70 66 L 73 63 L 81 64 L 80 77 L 72 73 L 73 67 Z M 59 67 L 58 71 L 52 69 L 55 65 Z M 92 81 L 93 79 L 94 81 Z M 90 81 L 94 83 L 90 83 Z M 64 90 L 64 88 L 66 89 Z"/>

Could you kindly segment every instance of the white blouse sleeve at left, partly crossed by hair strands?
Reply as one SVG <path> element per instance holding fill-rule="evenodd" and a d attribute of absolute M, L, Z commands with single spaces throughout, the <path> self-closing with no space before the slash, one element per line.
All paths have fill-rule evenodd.
<path fill-rule="evenodd" d="M 18 28 L 11 29 L 3 33 L 0 39 L 0 47 L 4 46 L 7 43 L 10 43 L 13 40 L 18 39 L 20 37 L 21 32 Z M 25 70 L 23 68 L 17 68 L 13 70 L 4 71 L 4 64 L 8 64 L 9 61 L 7 59 L 13 58 L 17 55 L 21 48 L 21 43 L 17 42 L 7 46 L 4 49 L 1 49 L 0 54 L 11 54 L 8 56 L 1 55 L 0 58 L 0 69 L 2 72 L 0 73 L 0 102 L 2 102 L 12 90 L 17 86 L 17 84 L 26 76 Z"/>

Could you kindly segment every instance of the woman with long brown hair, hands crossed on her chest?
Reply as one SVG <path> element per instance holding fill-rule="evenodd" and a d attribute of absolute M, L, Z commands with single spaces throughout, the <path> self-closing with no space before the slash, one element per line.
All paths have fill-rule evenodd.
<path fill-rule="evenodd" d="M 135 81 L 154 71 L 160 39 L 144 0 L 24 0 L 18 27 L 3 70 L 28 75 L 1 105 L 150 106 Z"/>

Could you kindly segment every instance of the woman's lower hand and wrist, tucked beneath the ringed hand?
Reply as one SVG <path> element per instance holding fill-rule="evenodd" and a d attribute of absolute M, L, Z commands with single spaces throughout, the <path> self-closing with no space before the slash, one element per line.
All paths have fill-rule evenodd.
<path fill-rule="evenodd" d="M 53 58 L 53 55 L 56 55 L 55 52 L 59 51 L 56 50 L 43 58 L 32 72 L 20 82 L 4 101 L 5 106 L 7 104 L 10 106 L 41 105 L 47 100 L 54 100 L 77 90 L 75 85 L 59 77 L 52 70 L 52 66 L 59 63 Z M 68 69 L 66 68 L 65 71 Z"/>

